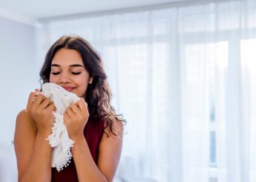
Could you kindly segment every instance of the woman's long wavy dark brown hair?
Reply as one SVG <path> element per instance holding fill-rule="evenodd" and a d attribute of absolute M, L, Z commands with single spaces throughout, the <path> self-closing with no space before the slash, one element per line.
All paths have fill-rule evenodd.
<path fill-rule="evenodd" d="M 82 59 L 89 76 L 93 77 L 93 82 L 88 85 L 84 99 L 88 103 L 90 117 L 97 120 L 104 119 L 110 132 L 113 132 L 113 122 L 124 122 L 121 114 L 116 114 L 115 108 L 111 106 L 110 100 L 112 92 L 110 90 L 107 75 L 103 69 L 102 59 L 88 41 L 80 36 L 61 36 L 48 50 L 45 62 L 40 71 L 42 84 L 50 80 L 50 68 L 54 55 L 61 48 L 77 50 Z M 42 86 L 42 85 L 41 85 Z M 97 121 L 96 120 L 96 121 Z"/>

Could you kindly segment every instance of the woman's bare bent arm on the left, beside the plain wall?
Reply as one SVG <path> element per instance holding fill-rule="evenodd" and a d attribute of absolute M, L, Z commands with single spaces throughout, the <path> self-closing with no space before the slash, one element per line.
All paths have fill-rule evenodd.
<path fill-rule="evenodd" d="M 18 181 L 45 182 L 50 181 L 51 178 L 50 159 L 52 149 L 48 141 L 45 141 L 45 138 L 47 138 L 51 130 L 43 130 L 41 125 L 38 127 L 38 113 L 35 114 L 35 111 L 41 110 L 37 108 L 36 102 L 32 103 L 31 98 L 33 97 L 34 95 L 31 93 L 27 109 L 20 111 L 16 120 L 15 154 L 18 164 Z M 42 98 L 42 96 L 40 97 Z M 39 98 L 37 100 L 39 100 L 39 102 L 42 101 Z M 49 100 L 40 103 L 40 106 L 44 105 L 48 108 Z M 31 114 L 29 114 L 28 110 Z M 50 111 L 48 113 L 50 113 Z M 37 122 L 35 122 L 31 115 L 37 119 Z M 42 116 L 42 121 L 45 121 L 45 116 L 40 116 Z M 48 119 L 49 118 L 50 117 L 48 117 Z"/>

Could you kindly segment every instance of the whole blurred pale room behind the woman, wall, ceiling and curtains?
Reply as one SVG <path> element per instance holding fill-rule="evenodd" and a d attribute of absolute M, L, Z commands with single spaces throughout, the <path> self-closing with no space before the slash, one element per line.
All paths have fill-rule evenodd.
<path fill-rule="evenodd" d="M 0 0 L 1 182 L 45 54 L 74 34 L 127 119 L 115 182 L 256 181 L 255 0 Z"/>

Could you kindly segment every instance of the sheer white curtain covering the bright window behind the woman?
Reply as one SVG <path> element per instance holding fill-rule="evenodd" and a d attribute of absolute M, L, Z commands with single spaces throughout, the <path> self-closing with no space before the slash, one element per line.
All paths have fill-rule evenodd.
<path fill-rule="evenodd" d="M 127 125 L 116 181 L 256 181 L 256 1 L 48 19 L 102 55 Z M 42 62 L 39 62 L 41 64 Z"/>

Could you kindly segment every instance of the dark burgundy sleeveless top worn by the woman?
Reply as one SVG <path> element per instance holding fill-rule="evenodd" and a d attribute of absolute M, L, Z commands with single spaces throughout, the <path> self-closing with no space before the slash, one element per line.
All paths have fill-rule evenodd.
<path fill-rule="evenodd" d="M 104 133 L 104 120 L 93 119 L 89 117 L 86 127 L 83 130 L 83 135 L 86 138 L 89 149 L 91 151 L 91 157 L 97 164 L 99 155 L 99 142 Z M 74 144 L 75 145 L 75 144 Z M 85 161 L 86 162 L 86 161 Z M 78 181 L 77 171 L 75 170 L 75 162 L 72 159 L 68 167 L 64 167 L 63 170 L 58 172 L 56 167 L 52 168 L 51 181 L 55 182 L 76 182 Z"/>

